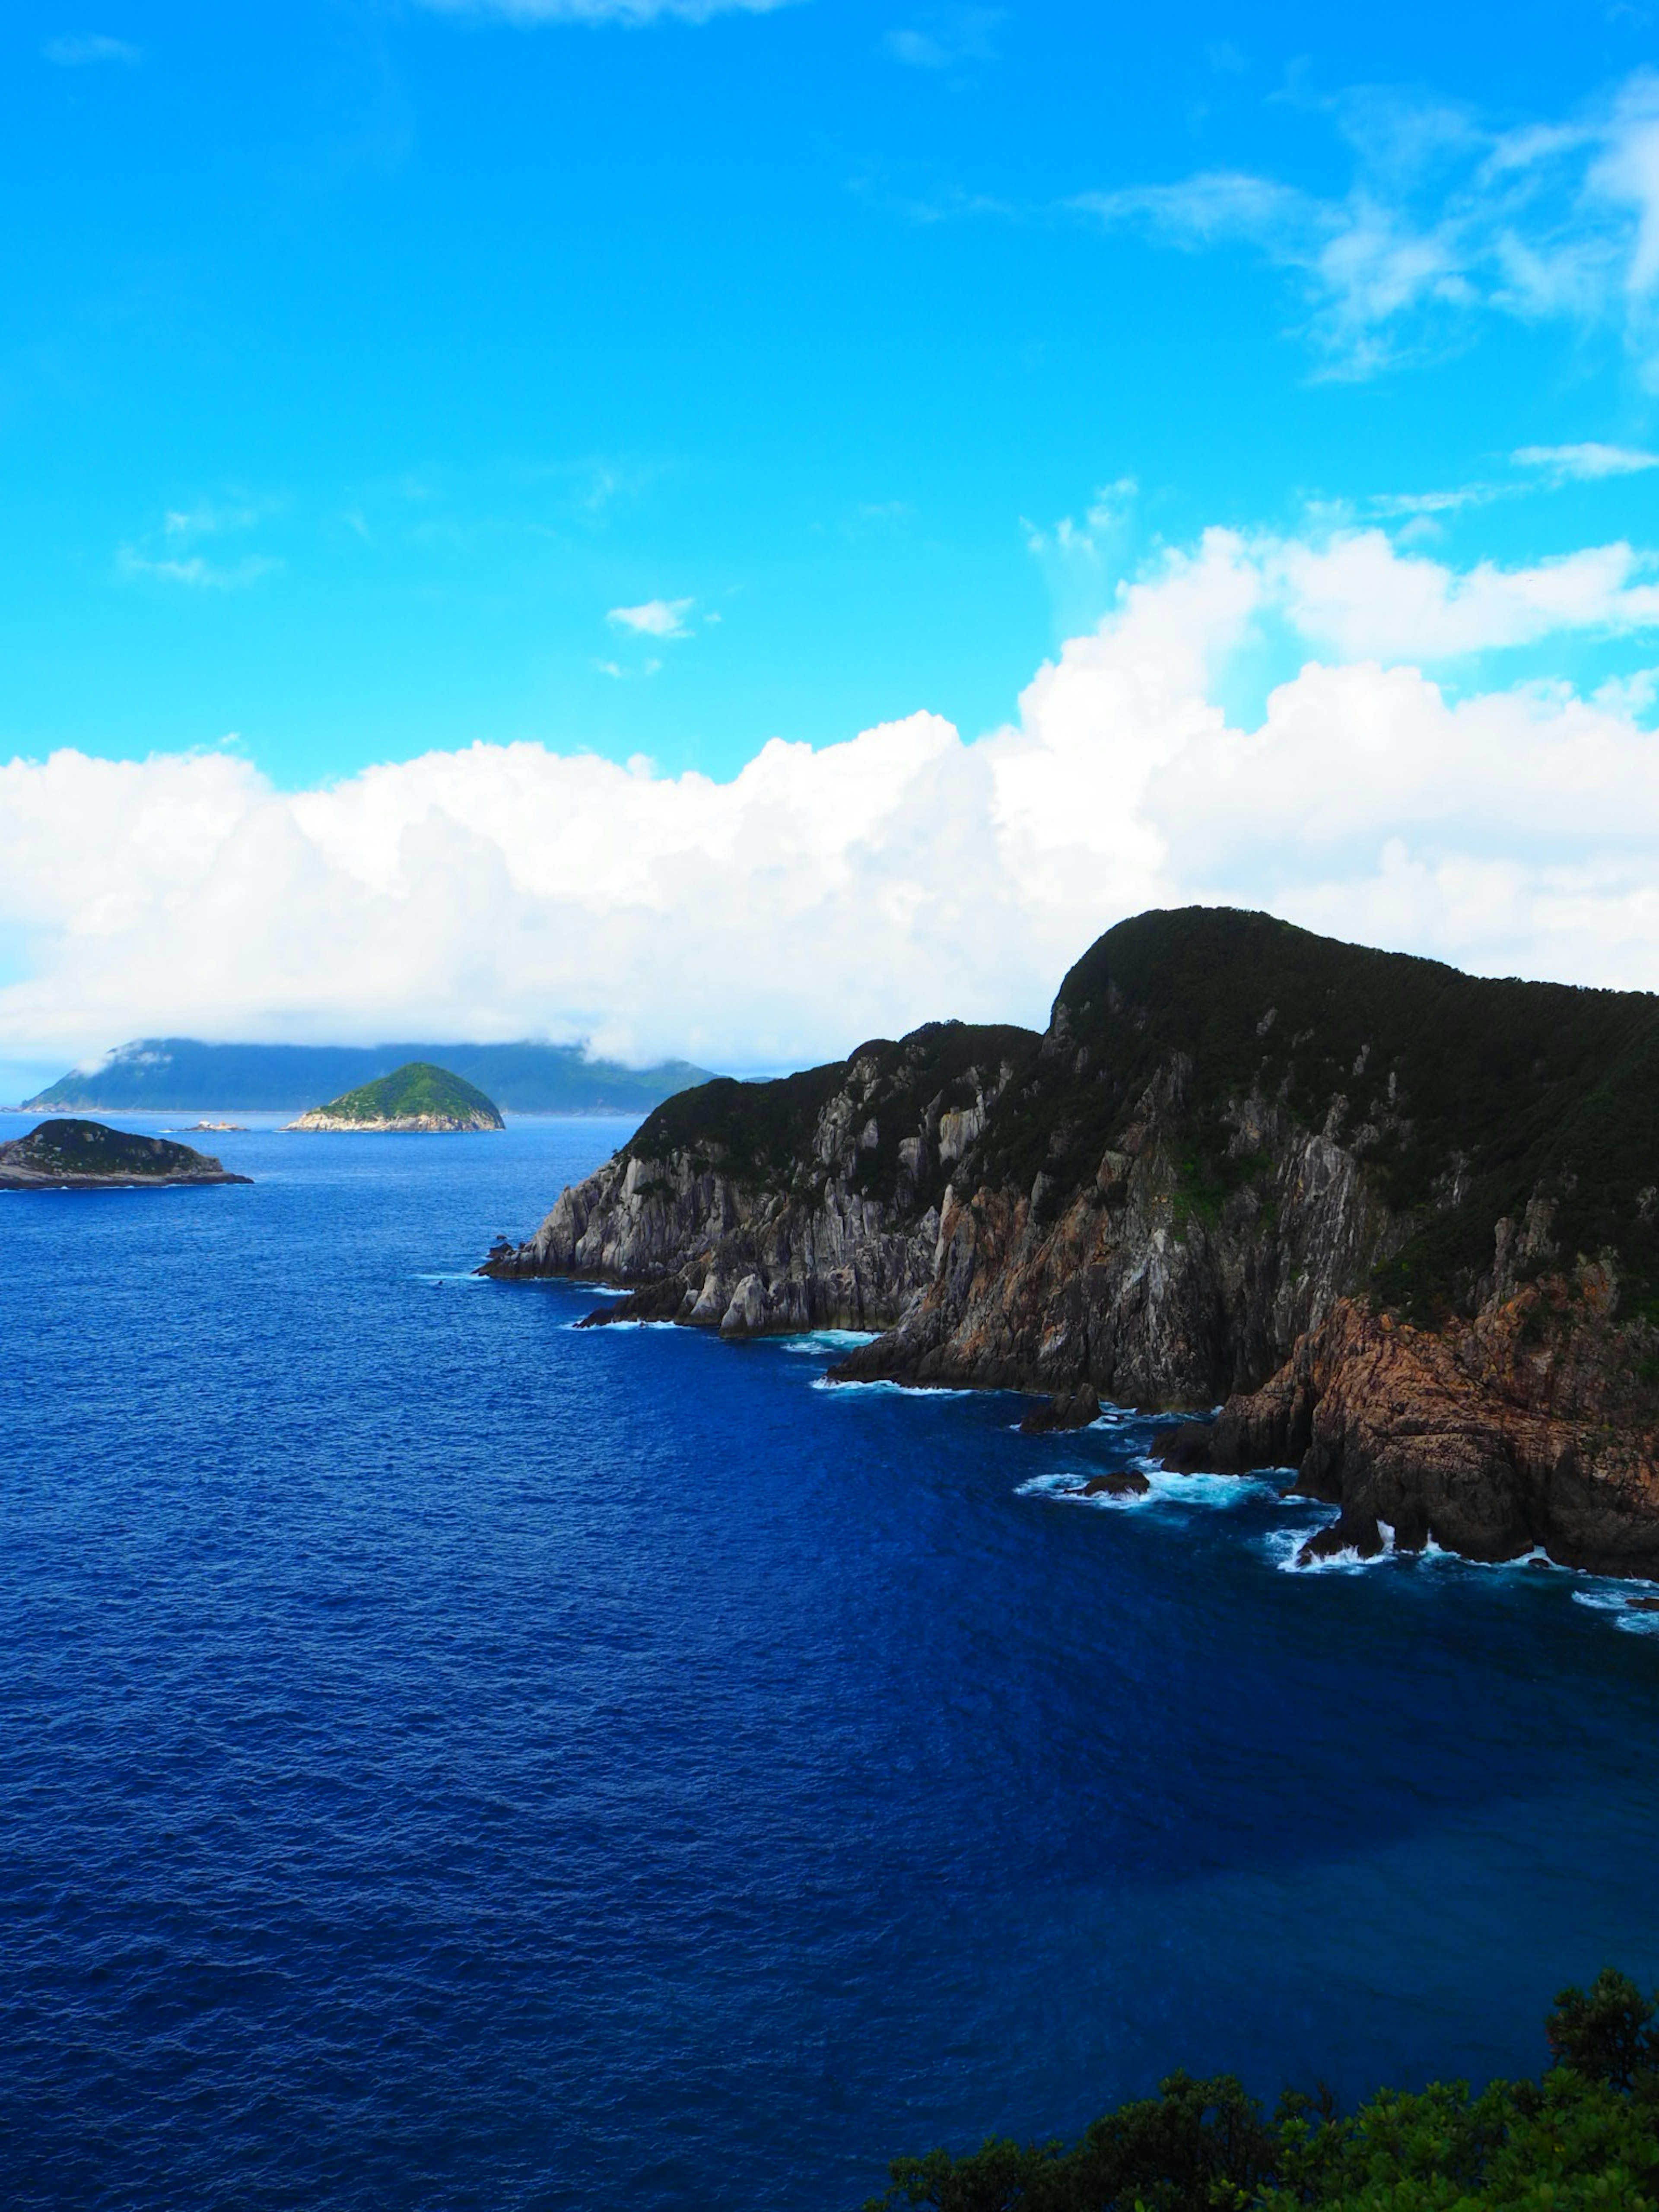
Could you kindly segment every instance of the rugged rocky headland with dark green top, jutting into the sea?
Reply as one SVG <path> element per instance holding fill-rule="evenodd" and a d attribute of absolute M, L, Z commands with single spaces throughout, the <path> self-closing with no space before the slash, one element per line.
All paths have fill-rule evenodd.
<path fill-rule="evenodd" d="M 1186 909 L 1108 931 L 1040 1037 L 936 1024 L 668 1102 L 487 1272 L 880 1329 L 843 1376 L 1077 1418 L 1228 1398 L 1179 1460 L 1294 1464 L 1343 1542 L 1639 1566 L 1657 1190 L 1657 1000 Z"/>

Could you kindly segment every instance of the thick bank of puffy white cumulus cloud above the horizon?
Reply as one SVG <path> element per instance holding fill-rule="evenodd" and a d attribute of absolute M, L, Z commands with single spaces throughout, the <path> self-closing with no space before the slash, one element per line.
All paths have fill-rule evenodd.
<path fill-rule="evenodd" d="M 1380 531 L 1212 531 L 1018 719 L 918 712 L 728 783 L 476 743 L 281 792 L 228 752 L 0 768 L 0 1053 L 146 1031 L 555 1035 L 807 1062 L 929 1015 L 1042 1020 L 1124 914 L 1265 905 L 1484 971 L 1659 987 L 1652 670 L 1595 697 L 1436 661 L 1659 628 L 1628 546 L 1455 573 Z M 1305 664 L 1252 728 L 1237 655 Z M 1460 666 L 1464 666 L 1460 661 Z"/>

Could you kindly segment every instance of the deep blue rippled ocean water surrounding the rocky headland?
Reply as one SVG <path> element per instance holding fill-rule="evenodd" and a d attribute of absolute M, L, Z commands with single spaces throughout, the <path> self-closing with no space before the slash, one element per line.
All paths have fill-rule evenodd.
<path fill-rule="evenodd" d="M 841 2212 L 1659 1975 L 1655 1615 L 469 1279 L 624 1137 L 0 1197 L 9 2205 Z"/>

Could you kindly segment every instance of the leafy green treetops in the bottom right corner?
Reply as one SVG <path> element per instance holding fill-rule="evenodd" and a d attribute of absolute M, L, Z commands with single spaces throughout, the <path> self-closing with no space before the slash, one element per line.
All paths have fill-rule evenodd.
<path fill-rule="evenodd" d="M 896 2159 L 865 2212 L 1655 2212 L 1655 2004 L 1619 1973 L 1564 1989 L 1537 2081 L 1378 2090 L 1356 2112 L 1287 2093 L 1272 2119 L 1232 2075 L 1170 2075 L 1079 2143 L 991 2139 Z"/>

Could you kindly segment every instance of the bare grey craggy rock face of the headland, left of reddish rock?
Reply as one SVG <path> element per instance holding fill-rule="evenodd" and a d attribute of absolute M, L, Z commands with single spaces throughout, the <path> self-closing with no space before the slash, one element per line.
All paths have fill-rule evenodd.
<path fill-rule="evenodd" d="M 1040 1053 L 1064 1035 L 1060 1009 Z M 1194 1203 L 1183 1055 L 1133 1102 L 1082 1188 L 1040 1172 L 1031 1194 L 975 1172 L 1013 1071 L 971 1073 L 967 1104 L 929 1097 L 900 1135 L 891 1082 L 854 1057 L 803 1126 L 801 1157 L 768 1179 L 695 1144 L 657 1150 L 646 1124 L 484 1272 L 637 1285 L 613 1318 L 661 1316 L 677 1281 L 672 1318 L 723 1336 L 885 1332 L 847 1358 L 858 1378 L 1088 1387 L 1164 1407 L 1261 1383 L 1398 1243 L 1354 1150 L 1254 1091 L 1228 1102 L 1228 1146 L 1250 1175 L 1219 1206 Z M 891 1177 L 860 1188 L 883 1119 Z"/>

